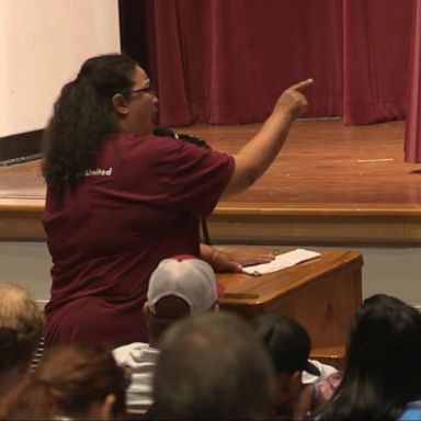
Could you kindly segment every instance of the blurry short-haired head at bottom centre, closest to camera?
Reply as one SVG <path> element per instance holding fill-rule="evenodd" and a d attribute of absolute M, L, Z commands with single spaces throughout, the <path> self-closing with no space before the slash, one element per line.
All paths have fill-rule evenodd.
<path fill-rule="evenodd" d="M 273 387 L 272 363 L 252 329 L 234 314 L 207 312 L 164 333 L 153 410 L 159 419 L 264 419 Z"/>

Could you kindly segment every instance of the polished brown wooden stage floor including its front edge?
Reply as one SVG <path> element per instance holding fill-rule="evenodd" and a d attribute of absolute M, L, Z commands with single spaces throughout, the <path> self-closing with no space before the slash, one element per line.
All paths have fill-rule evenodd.
<path fill-rule="evenodd" d="M 259 125 L 180 128 L 236 152 Z M 403 162 L 405 122 L 299 121 L 270 170 L 208 219 L 214 243 L 419 244 L 421 163 Z M 0 238 L 44 240 L 39 161 L 0 167 Z M 206 182 L 206 180 L 203 180 Z"/>

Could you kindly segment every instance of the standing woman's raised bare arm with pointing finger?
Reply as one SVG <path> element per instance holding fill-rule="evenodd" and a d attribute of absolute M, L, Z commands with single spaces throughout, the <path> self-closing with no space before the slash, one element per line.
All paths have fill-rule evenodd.
<path fill-rule="evenodd" d="M 311 83 L 312 79 L 304 80 L 281 94 L 258 134 L 234 156 L 236 167 L 223 198 L 248 189 L 266 171 L 280 152 L 293 122 L 306 111 L 308 103 L 301 91 Z"/>

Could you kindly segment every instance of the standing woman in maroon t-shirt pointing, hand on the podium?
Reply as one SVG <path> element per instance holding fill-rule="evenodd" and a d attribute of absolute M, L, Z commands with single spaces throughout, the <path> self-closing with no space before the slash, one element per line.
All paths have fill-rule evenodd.
<path fill-rule="evenodd" d="M 45 130 L 43 225 L 54 263 L 46 346 L 147 341 L 141 307 L 162 259 L 187 253 L 216 271 L 240 271 L 240 257 L 200 243 L 200 218 L 266 171 L 306 110 L 301 91 L 311 83 L 286 89 L 230 156 L 153 135 L 158 99 L 145 70 L 121 54 L 88 59 Z"/>

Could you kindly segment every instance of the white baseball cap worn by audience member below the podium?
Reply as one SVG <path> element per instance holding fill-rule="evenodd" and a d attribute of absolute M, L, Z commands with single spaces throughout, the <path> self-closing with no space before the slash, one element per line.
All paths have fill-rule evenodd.
<path fill-rule="evenodd" d="M 191 315 L 200 315 L 215 305 L 221 291 L 208 263 L 182 254 L 158 264 L 149 280 L 147 298 L 153 314 L 161 298 L 173 295 L 189 304 Z"/>

